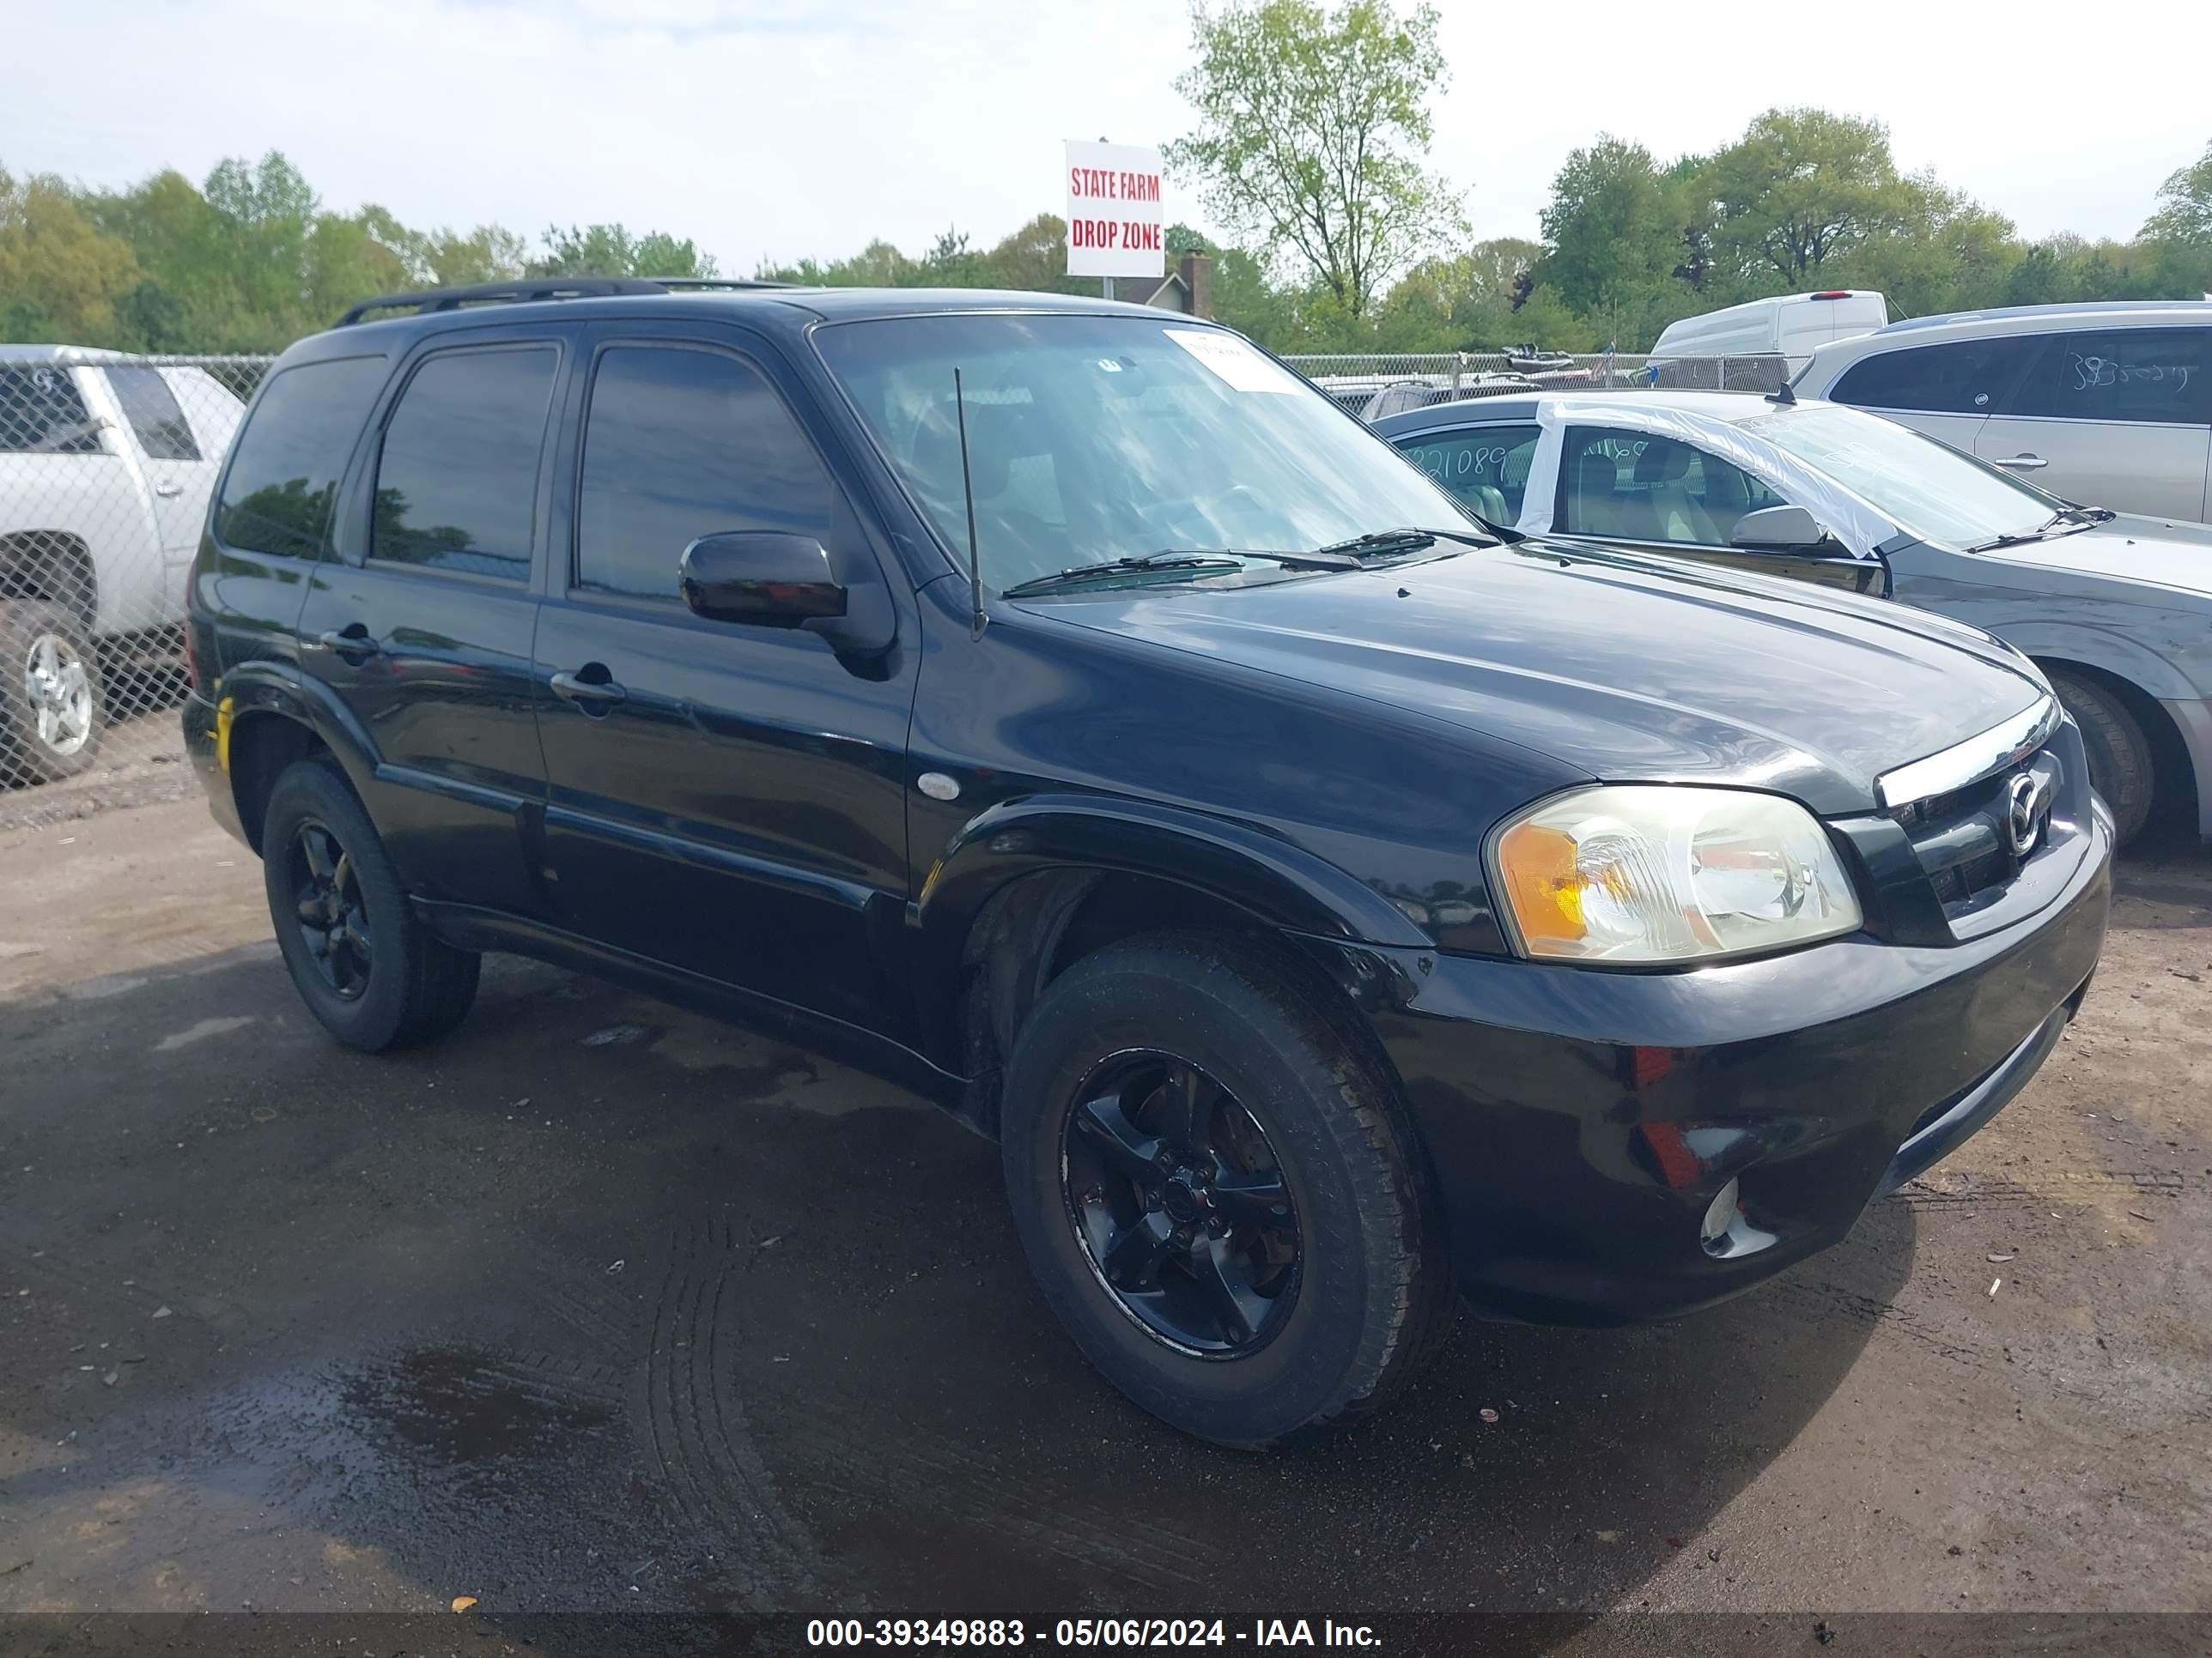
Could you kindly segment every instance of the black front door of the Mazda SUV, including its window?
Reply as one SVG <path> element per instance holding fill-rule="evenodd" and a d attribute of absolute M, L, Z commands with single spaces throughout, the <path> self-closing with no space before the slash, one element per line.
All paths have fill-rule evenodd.
<path fill-rule="evenodd" d="M 845 661 L 677 592 L 684 548 L 723 531 L 812 535 L 845 581 L 896 568 L 803 407 L 737 334 L 597 336 L 538 628 L 549 873 L 591 940 L 902 1035 L 872 937 L 907 902 L 911 643 Z"/>

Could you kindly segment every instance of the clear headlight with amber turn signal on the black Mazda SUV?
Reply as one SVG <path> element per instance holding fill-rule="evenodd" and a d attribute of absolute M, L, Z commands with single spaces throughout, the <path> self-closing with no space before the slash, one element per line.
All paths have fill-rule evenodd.
<path fill-rule="evenodd" d="M 1522 951 L 1562 962 L 1701 962 L 1860 922 L 1818 820 L 1772 794 L 1577 789 L 1506 825 L 1491 862 Z"/>

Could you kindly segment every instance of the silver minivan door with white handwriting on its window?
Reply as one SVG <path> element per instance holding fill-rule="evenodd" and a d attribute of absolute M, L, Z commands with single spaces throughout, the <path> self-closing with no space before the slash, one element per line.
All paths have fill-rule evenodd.
<path fill-rule="evenodd" d="M 1973 453 L 2086 506 L 2205 517 L 2212 327 L 2046 336 Z"/>

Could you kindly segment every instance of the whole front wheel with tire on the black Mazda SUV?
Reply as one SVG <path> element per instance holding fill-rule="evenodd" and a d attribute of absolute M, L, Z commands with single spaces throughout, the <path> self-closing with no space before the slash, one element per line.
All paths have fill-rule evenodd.
<path fill-rule="evenodd" d="M 1449 1311 L 1396 1079 L 1261 946 L 1159 935 L 1068 968 L 1006 1066 L 1002 1161 L 1068 1335 L 1201 1439 L 1259 1448 L 1380 1404 Z"/>

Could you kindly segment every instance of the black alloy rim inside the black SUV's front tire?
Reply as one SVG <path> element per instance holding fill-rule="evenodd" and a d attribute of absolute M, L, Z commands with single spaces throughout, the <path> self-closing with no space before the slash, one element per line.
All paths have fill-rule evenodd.
<path fill-rule="evenodd" d="M 1298 1295 L 1298 1211 L 1267 1132 L 1188 1059 L 1128 1050 L 1066 1112 L 1062 1194 L 1128 1318 L 1199 1357 L 1265 1346 Z"/>

